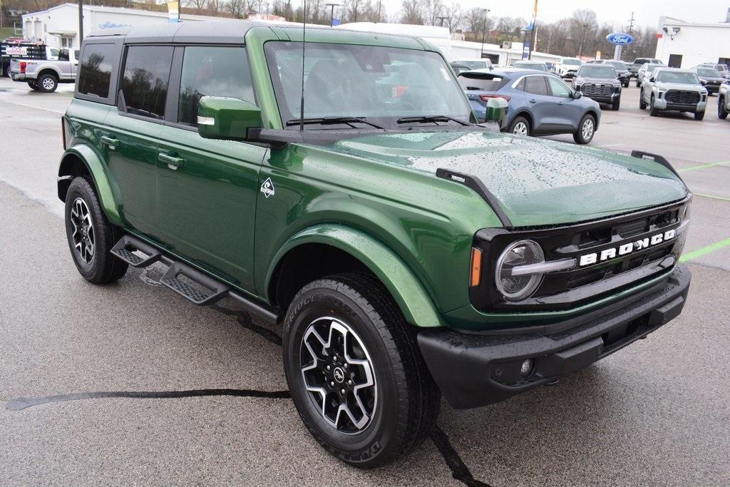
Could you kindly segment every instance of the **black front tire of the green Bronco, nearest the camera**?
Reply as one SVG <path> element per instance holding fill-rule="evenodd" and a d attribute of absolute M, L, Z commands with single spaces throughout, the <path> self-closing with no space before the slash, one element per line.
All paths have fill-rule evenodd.
<path fill-rule="evenodd" d="M 354 397 L 354 389 L 345 396 L 340 393 L 343 390 L 341 386 L 345 387 L 346 383 L 353 386 L 353 383 L 347 380 L 349 375 L 342 376 L 341 367 L 335 367 L 344 364 L 342 358 L 339 361 L 335 358 L 338 353 L 336 347 L 326 349 L 328 355 L 319 361 L 313 359 L 311 348 L 305 350 L 304 337 L 317 340 L 311 334 L 315 323 L 316 326 L 323 323 L 325 327 L 334 327 L 332 323 L 340 323 L 339 326 L 345 323 L 350 336 L 347 341 L 350 344 L 361 343 L 362 348 L 357 349 L 361 351 L 360 358 L 364 356 L 372 364 L 374 386 L 371 391 L 377 395 L 374 402 L 362 401 L 363 404 L 375 405 L 374 410 L 369 411 L 370 415 L 360 415 L 358 421 L 371 418 L 361 429 L 347 417 L 345 423 L 337 423 L 337 426 L 326 421 L 323 407 L 319 404 L 322 395 L 307 390 L 306 384 L 311 388 L 320 377 L 322 388 L 326 390 L 325 407 L 337 408 L 338 403 L 342 404 L 342 397 L 350 401 Z M 415 448 L 433 429 L 439 414 L 440 392 L 420 355 L 415 332 L 405 322 L 388 291 L 374 277 L 340 274 L 315 280 L 301 288 L 286 314 L 283 350 L 286 380 L 301 421 L 323 448 L 347 464 L 359 468 L 387 464 Z M 318 353 L 325 357 L 323 352 Z M 327 365 L 326 361 L 331 363 Z M 310 382 L 305 383 L 305 371 L 302 369 L 307 364 L 320 364 L 320 367 L 312 369 L 311 378 L 307 378 Z M 326 372 L 326 367 L 331 367 L 331 372 Z M 350 372 L 344 373 L 362 372 L 357 367 L 353 365 Z M 337 368 L 340 369 L 339 375 L 336 375 Z M 328 377 L 329 373 L 332 377 Z M 362 377 L 352 378 L 362 380 Z M 338 380 L 339 384 L 334 380 Z M 334 388 L 330 384 L 334 384 Z M 358 410 L 363 413 L 363 410 Z M 345 428 L 348 421 L 349 432 Z"/>

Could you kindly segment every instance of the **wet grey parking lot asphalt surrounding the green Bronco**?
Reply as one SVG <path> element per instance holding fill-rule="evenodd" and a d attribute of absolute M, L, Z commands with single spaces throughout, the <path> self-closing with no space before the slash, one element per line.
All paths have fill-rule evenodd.
<path fill-rule="evenodd" d="M 195 307 L 155 284 L 159 269 L 103 287 L 77 274 L 55 196 L 69 90 L 0 78 L 1 484 L 730 483 L 730 120 L 716 97 L 699 122 L 650 118 L 629 88 L 591 144 L 661 154 L 694 191 L 683 314 L 557 386 L 444 402 L 418 450 L 361 471 L 301 425 L 275 327 L 231 302 Z"/>

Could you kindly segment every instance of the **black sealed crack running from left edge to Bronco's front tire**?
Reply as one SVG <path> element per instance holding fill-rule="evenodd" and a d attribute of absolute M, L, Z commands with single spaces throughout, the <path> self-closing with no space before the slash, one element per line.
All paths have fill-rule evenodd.
<path fill-rule="evenodd" d="M 79 401 L 81 399 L 177 399 L 181 397 L 234 396 L 288 399 L 289 391 L 258 391 L 256 389 L 193 389 L 191 391 L 92 391 L 58 394 L 56 396 L 17 397 L 5 404 L 5 409 L 20 411 L 26 407 L 50 402 Z"/>

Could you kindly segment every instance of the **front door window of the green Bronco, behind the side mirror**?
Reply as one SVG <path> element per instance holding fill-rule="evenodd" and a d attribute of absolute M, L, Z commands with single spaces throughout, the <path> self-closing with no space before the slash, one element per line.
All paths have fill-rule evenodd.
<path fill-rule="evenodd" d="M 255 103 L 244 47 L 185 47 L 177 121 L 198 124 L 202 96 L 228 96 Z"/>

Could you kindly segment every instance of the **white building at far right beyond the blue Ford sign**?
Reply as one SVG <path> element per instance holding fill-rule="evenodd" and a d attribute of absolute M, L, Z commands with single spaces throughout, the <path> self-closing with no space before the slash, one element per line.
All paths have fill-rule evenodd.
<path fill-rule="evenodd" d="M 720 23 L 691 23 L 660 17 L 656 37 L 655 57 L 667 66 L 730 65 L 730 10 L 726 20 Z"/>

